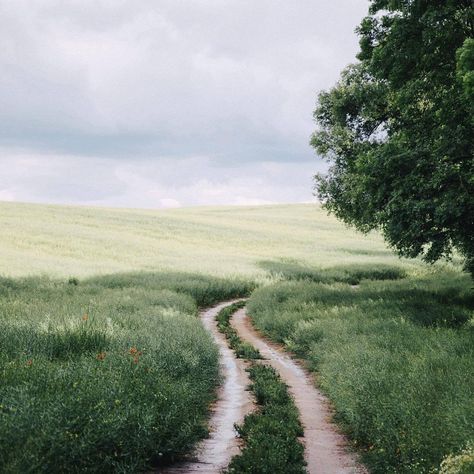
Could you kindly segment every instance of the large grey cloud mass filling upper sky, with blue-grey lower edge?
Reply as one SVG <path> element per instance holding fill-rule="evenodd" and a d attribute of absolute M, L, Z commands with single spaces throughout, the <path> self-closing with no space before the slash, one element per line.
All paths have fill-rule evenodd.
<path fill-rule="evenodd" d="M 294 160 L 366 0 L 0 1 L 0 143 Z"/>

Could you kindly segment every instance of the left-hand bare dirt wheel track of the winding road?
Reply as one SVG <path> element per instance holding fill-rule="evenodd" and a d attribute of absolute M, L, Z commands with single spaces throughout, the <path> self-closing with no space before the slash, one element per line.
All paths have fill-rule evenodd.
<path fill-rule="evenodd" d="M 245 363 L 235 357 L 225 336 L 218 331 L 216 322 L 217 313 L 232 303 L 235 301 L 221 303 L 201 312 L 204 326 L 219 346 L 221 374 L 224 377 L 217 393 L 217 401 L 211 409 L 210 436 L 198 445 L 195 460 L 163 468 L 158 472 L 217 474 L 240 451 L 234 424 L 242 423 L 245 415 L 252 411 L 254 403 L 247 391 L 250 382 Z"/>

